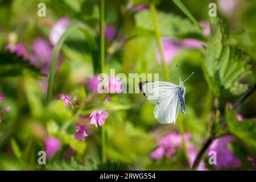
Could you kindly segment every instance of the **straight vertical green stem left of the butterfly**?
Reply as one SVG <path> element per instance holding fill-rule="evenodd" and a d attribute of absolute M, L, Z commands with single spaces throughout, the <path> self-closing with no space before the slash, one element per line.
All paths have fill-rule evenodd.
<path fill-rule="evenodd" d="M 100 43 L 101 43 L 101 73 L 105 72 L 105 34 L 104 34 L 104 0 L 100 1 Z M 101 127 L 101 162 L 106 162 L 106 131 Z"/>

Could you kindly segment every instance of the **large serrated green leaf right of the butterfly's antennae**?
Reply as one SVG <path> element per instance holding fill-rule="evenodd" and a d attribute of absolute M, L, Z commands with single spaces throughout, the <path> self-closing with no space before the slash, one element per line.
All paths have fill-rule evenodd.
<path fill-rule="evenodd" d="M 207 49 L 202 50 L 205 56 L 203 69 L 210 89 L 217 97 L 242 94 L 247 85 L 241 84 L 240 80 L 251 73 L 248 59 L 242 57 L 241 49 L 226 44 L 229 34 L 222 20 L 212 18 L 210 31 Z"/>

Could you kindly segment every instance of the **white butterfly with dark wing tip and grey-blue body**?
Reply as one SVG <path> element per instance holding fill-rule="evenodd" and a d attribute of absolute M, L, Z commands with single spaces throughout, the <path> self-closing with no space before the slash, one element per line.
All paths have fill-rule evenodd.
<path fill-rule="evenodd" d="M 185 81 L 180 79 L 179 85 L 164 81 L 139 82 L 139 89 L 143 95 L 152 104 L 156 104 L 154 116 L 160 123 L 175 123 L 179 112 L 179 105 L 181 112 L 183 114 L 186 113 L 185 87 L 183 84 Z"/>

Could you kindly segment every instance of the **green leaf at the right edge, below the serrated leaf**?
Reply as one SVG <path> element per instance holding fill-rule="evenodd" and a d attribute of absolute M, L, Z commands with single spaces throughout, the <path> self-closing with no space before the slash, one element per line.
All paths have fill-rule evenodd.
<path fill-rule="evenodd" d="M 236 114 L 232 109 L 226 111 L 226 121 L 228 123 L 229 131 L 233 135 L 243 140 L 243 142 L 256 147 L 256 121 L 243 119 L 238 121 Z"/>

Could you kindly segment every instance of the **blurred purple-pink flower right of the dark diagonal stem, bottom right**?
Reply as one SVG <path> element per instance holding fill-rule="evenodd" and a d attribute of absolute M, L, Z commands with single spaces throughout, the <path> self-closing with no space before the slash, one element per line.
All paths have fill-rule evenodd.
<path fill-rule="evenodd" d="M 217 154 L 216 168 L 237 168 L 241 166 L 241 162 L 232 151 L 228 148 L 228 144 L 233 141 L 232 137 L 224 137 L 215 139 L 209 147 L 209 151 L 215 151 Z"/>

